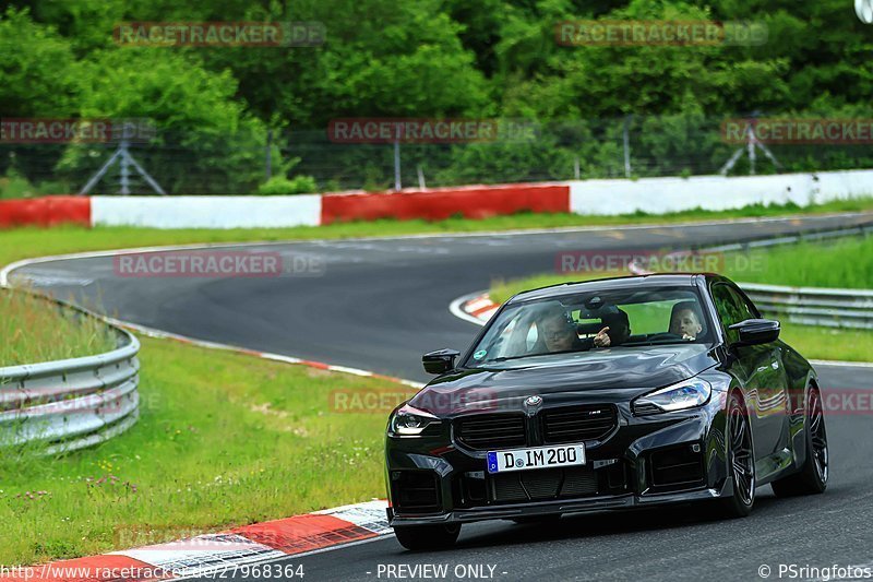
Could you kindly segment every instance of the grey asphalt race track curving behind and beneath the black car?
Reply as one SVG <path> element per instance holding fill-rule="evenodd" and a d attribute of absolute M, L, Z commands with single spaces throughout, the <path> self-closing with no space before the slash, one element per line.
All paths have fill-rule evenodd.
<path fill-rule="evenodd" d="M 51 261 L 15 271 L 16 284 L 73 297 L 125 321 L 201 340 L 426 381 L 422 353 L 465 348 L 476 325 L 450 313 L 456 297 L 555 269 L 560 251 L 687 248 L 873 223 L 873 215 L 762 219 L 696 226 L 577 229 L 538 234 L 428 236 L 247 247 L 314 258 L 316 273 L 274 278 L 119 277 L 108 257 Z M 839 341 L 834 336 L 833 341 Z M 873 371 L 820 366 L 823 389 L 873 389 Z M 519 580 L 761 580 L 762 565 L 873 562 L 873 418 L 827 418 L 832 474 L 814 498 L 758 490 L 744 520 L 709 521 L 694 508 L 564 518 L 558 526 L 466 525 L 455 549 L 405 551 L 393 536 L 306 557 L 306 580 L 386 580 L 393 565 L 494 567 Z M 340 504 L 348 500 L 337 500 Z M 380 566 L 382 569 L 380 570 Z M 408 574 L 408 571 L 404 571 Z M 788 573 L 782 574 L 787 579 Z M 403 579 L 408 580 L 408 575 Z M 798 578 L 794 578 L 798 579 Z"/>

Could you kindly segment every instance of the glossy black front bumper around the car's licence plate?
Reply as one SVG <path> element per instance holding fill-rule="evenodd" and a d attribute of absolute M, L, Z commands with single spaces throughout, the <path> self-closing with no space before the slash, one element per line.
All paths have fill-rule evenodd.
<path fill-rule="evenodd" d="M 726 423 L 719 393 L 714 393 L 706 405 L 682 413 L 634 417 L 629 406 L 619 405 L 618 417 L 618 426 L 601 441 L 585 441 L 586 465 L 578 472 L 572 475 L 554 468 L 513 472 L 502 474 L 502 483 L 486 471 L 487 451 L 465 448 L 455 438 L 452 423 L 443 423 L 439 435 L 388 436 L 385 475 L 388 521 L 392 525 L 467 523 L 634 509 L 733 494 L 731 479 L 727 478 Z M 665 473 L 659 464 L 679 459 L 674 453 L 682 460 L 699 459 L 698 478 L 674 479 L 674 483 L 665 478 L 670 468 Z M 561 473 L 554 474 L 557 471 Z M 537 482 L 537 472 L 552 474 Z M 409 475 L 415 475 L 415 483 L 407 479 Z M 531 477 L 533 485 L 526 486 L 525 480 Z M 552 477 L 559 485 L 555 495 L 550 496 L 548 482 Z M 516 478 L 521 478 L 518 487 Z M 510 488 L 505 479 L 510 479 Z M 567 494 L 564 483 L 571 479 L 576 479 L 575 488 Z M 410 484 L 430 487 L 431 483 L 433 490 L 428 494 L 433 500 L 429 506 L 412 508 L 406 502 L 409 496 L 402 490 L 404 487 Z M 517 494 L 506 497 L 506 491 L 523 491 L 525 498 Z"/>

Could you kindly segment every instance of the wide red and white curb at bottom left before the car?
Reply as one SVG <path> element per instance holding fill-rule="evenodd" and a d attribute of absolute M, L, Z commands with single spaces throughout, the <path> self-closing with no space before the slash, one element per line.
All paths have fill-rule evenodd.
<path fill-rule="evenodd" d="M 259 571 L 271 572 L 266 574 L 271 578 L 283 578 L 276 575 L 278 570 L 267 570 L 267 565 L 391 535 L 386 508 L 384 500 L 343 506 L 167 544 L 10 568 L 9 573 L 0 573 L 0 580 L 134 582 L 183 580 L 219 572 L 227 578 L 247 572 L 249 578 L 260 578 Z M 299 566 L 286 568 L 306 574 L 298 572 Z"/>

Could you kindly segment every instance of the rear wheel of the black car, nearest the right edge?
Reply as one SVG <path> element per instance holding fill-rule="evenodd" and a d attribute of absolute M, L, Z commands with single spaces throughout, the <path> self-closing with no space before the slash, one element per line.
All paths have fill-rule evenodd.
<path fill-rule="evenodd" d="M 817 495 L 827 489 L 828 450 L 822 393 L 811 387 L 806 396 L 806 459 L 800 471 L 770 484 L 777 497 Z"/>

